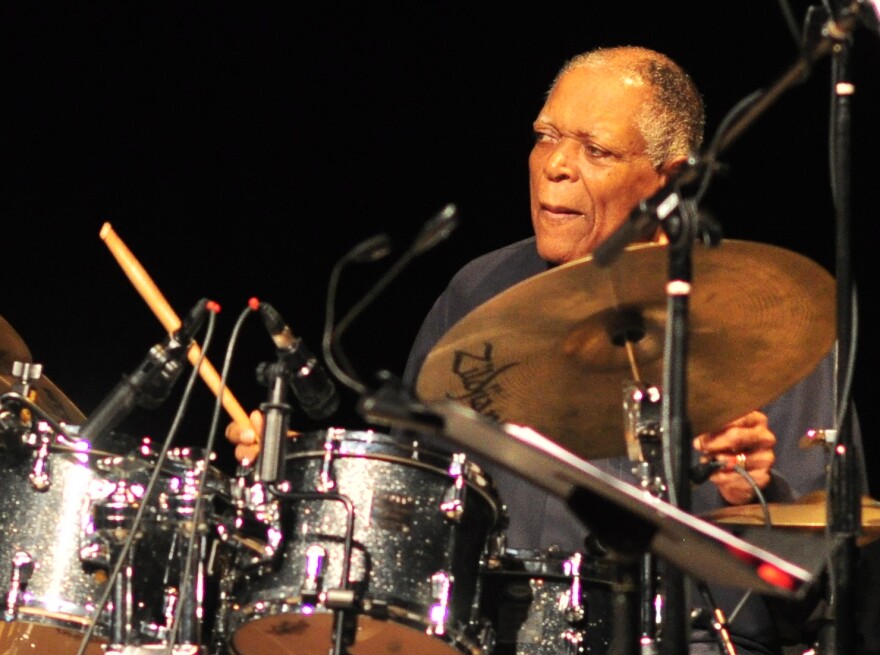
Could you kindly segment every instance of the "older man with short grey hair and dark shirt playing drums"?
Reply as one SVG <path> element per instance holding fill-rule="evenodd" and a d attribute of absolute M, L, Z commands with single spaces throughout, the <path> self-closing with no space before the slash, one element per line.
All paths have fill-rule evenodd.
<path fill-rule="evenodd" d="M 704 122 L 703 101 L 691 78 L 661 53 L 616 47 L 566 62 L 533 123 L 529 180 L 535 236 L 477 258 L 452 278 L 415 339 L 405 382 L 415 385 L 433 346 L 471 310 L 520 281 L 593 252 L 641 199 L 663 187 L 698 151 Z M 800 450 L 798 441 L 810 428 L 834 424 L 833 364 L 829 353 L 778 400 L 693 440 L 699 456 L 727 464 L 694 490 L 694 513 L 756 502 L 752 484 L 734 464 L 767 502 L 824 487 L 822 450 Z M 737 374 L 731 362 L 730 375 Z M 239 459 L 256 455 L 253 433 L 232 424 L 226 436 L 236 444 Z M 602 465 L 633 481 L 625 458 Z M 560 499 L 507 470 L 484 466 L 508 509 L 510 548 L 584 550 L 587 530 Z M 715 594 L 728 614 L 742 597 L 733 590 Z M 730 627 L 737 652 L 779 652 L 760 597 L 750 598 Z M 706 631 L 693 630 L 691 639 L 691 653 L 718 652 Z"/>

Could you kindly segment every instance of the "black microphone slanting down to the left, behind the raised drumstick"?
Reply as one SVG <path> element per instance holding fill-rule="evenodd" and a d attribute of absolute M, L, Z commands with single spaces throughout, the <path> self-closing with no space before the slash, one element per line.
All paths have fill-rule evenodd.
<path fill-rule="evenodd" d="M 147 353 L 134 373 L 123 377 L 119 384 L 101 401 L 98 408 L 80 427 L 80 435 L 93 441 L 122 422 L 135 407 L 154 409 L 171 393 L 171 388 L 183 371 L 193 338 L 205 322 L 214 303 L 199 300 L 189 311 L 176 332 Z M 213 311 L 213 309 L 212 309 Z"/>

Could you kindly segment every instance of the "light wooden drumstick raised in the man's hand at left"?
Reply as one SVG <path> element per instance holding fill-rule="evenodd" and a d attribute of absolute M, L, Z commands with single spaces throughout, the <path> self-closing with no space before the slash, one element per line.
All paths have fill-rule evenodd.
<path fill-rule="evenodd" d="M 147 305 L 153 310 L 153 313 L 159 319 L 159 322 L 162 323 L 162 326 L 168 330 L 169 333 L 179 329 L 180 318 L 174 313 L 171 305 L 165 300 L 165 296 L 162 295 L 159 288 L 155 285 L 138 260 L 135 259 L 134 255 L 128 249 L 128 246 L 122 242 L 122 239 L 119 238 L 119 235 L 116 234 L 110 223 L 104 223 L 101 227 L 100 236 L 101 240 L 107 244 L 110 252 L 113 253 L 116 261 L 119 262 L 119 265 L 128 276 L 128 279 L 131 280 L 135 289 L 137 289 L 143 299 L 147 301 Z M 199 357 L 201 356 L 201 348 L 199 348 L 198 344 L 193 344 L 189 353 L 187 353 L 187 356 L 193 366 L 198 363 Z M 220 375 L 207 358 L 202 361 L 202 365 L 199 367 L 199 374 L 202 376 L 202 380 L 205 381 L 205 384 L 208 385 L 208 388 L 214 392 L 214 395 L 219 396 Z M 244 408 L 242 408 L 227 387 L 223 388 L 223 397 L 221 398 L 221 401 L 223 407 L 226 409 L 229 416 L 232 417 L 233 421 L 238 423 L 242 428 L 254 429 L 254 426 L 248 418 L 247 412 L 244 411 Z"/>

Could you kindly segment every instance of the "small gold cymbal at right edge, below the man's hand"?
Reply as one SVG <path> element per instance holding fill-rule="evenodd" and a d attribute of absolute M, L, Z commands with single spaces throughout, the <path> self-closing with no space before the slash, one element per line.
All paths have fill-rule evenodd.
<path fill-rule="evenodd" d="M 827 525 L 827 496 L 814 491 L 793 503 L 768 503 L 770 525 L 775 528 L 824 530 Z M 760 504 L 722 507 L 706 513 L 707 521 L 731 525 L 765 525 L 764 510 Z M 857 539 L 864 546 L 880 537 L 880 501 L 862 496 L 862 533 Z"/>

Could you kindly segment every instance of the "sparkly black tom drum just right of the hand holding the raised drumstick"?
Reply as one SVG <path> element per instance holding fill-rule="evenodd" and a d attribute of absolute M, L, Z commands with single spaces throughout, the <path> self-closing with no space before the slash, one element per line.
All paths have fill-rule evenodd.
<path fill-rule="evenodd" d="M 503 508 L 479 467 L 389 435 L 331 429 L 289 444 L 280 486 L 289 490 L 278 502 L 283 545 L 232 594 L 234 653 L 326 655 L 337 638 L 333 599 L 351 596 L 342 639 L 355 655 L 480 652 L 469 629 Z"/>

